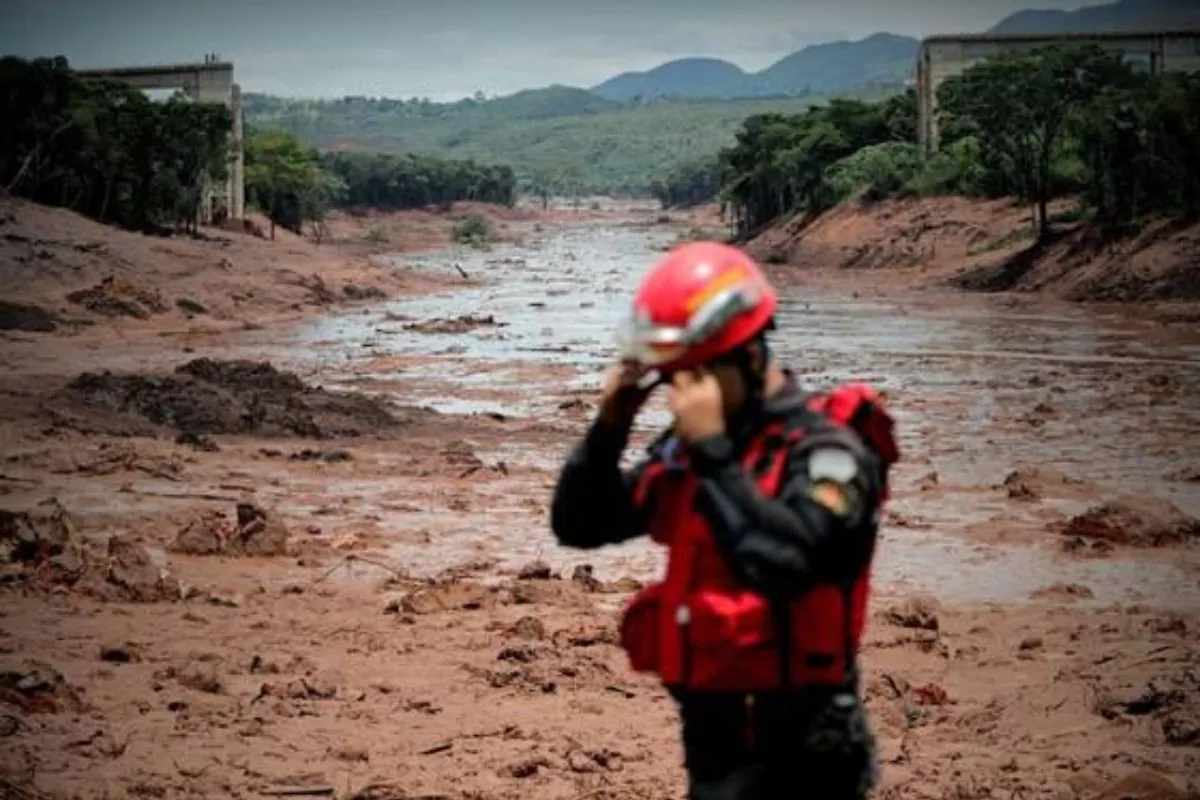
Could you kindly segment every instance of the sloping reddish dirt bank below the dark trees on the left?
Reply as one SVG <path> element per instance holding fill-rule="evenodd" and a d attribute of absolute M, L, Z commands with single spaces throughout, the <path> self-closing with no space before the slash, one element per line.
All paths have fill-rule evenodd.
<path fill-rule="evenodd" d="M 432 216 L 430 224 L 445 243 L 452 222 Z M 46 315 L 70 311 L 110 324 L 169 324 L 197 313 L 262 324 L 264 313 L 361 299 L 361 287 L 374 287 L 372 299 L 458 279 L 374 263 L 341 243 L 317 245 L 280 230 L 270 241 L 256 231 L 244 224 L 236 233 L 205 228 L 196 236 L 150 236 L 65 209 L 2 200 L 0 296 L 18 307 L 0 308 L 0 329 L 20 321 L 22 330 L 52 332 Z M 427 245 L 400 231 L 388 251 Z M 329 287 L 328 297 L 313 290 L 318 281 Z"/>

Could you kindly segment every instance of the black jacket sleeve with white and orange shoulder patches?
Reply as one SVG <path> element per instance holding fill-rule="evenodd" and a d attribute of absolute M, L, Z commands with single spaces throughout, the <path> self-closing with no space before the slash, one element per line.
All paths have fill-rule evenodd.
<path fill-rule="evenodd" d="M 834 477 L 814 475 L 814 455 L 828 462 L 830 450 L 853 468 Z M 881 488 L 869 451 L 840 431 L 815 432 L 788 453 L 778 499 L 762 495 L 732 451 L 719 437 L 689 452 L 701 476 L 697 510 L 746 585 L 792 596 L 815 579 L 838 579 L 865 564 Z"/>

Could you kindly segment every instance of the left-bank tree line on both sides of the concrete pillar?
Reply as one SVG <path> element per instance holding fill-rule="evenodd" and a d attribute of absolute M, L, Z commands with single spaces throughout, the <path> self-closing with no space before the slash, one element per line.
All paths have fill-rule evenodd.
<path fill-rule="evenodd" d="M 229 169 L 223 104 L 164 102 L 83 78 L 62 58 L 0 59 L 0 187 L 143 231 L 194 228 L 205 180 Z M 282 131 L 248 130 L 246 197 L 296 233 L 332 207 L 512 204 L 510 167 L 416 155 L 322 154 Z M 274 233 L 274 231 L 272 231 Z"/>

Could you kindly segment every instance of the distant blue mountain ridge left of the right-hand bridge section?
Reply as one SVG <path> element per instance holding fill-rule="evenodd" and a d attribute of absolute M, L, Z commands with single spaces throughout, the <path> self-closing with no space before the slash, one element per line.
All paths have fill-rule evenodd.
<path fill-rule="evenodd" d="M 826 42 L 780 59 L 761 72 L 719 59 L 680 59 L 647 72 L 625 72 L 593 86 L 605 100 L 780 97 L 898 84 L 912 76 L 919 42 L 875 34 L 857 42 Z"/>

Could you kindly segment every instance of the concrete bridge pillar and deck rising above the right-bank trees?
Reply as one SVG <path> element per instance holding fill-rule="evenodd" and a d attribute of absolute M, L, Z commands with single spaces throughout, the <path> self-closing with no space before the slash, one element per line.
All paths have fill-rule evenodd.
<path fill-rule="evenodd" d="M 937 88 L 943 80 L 1001 53 L 1066 43 L 1096 44 L 1110 53 L 1144 58 L 1154 74 L 1200 70 L 1200 30 L 930 36 L 917 55 L 917 138 L 925 157 L 937 150 Z"/>

